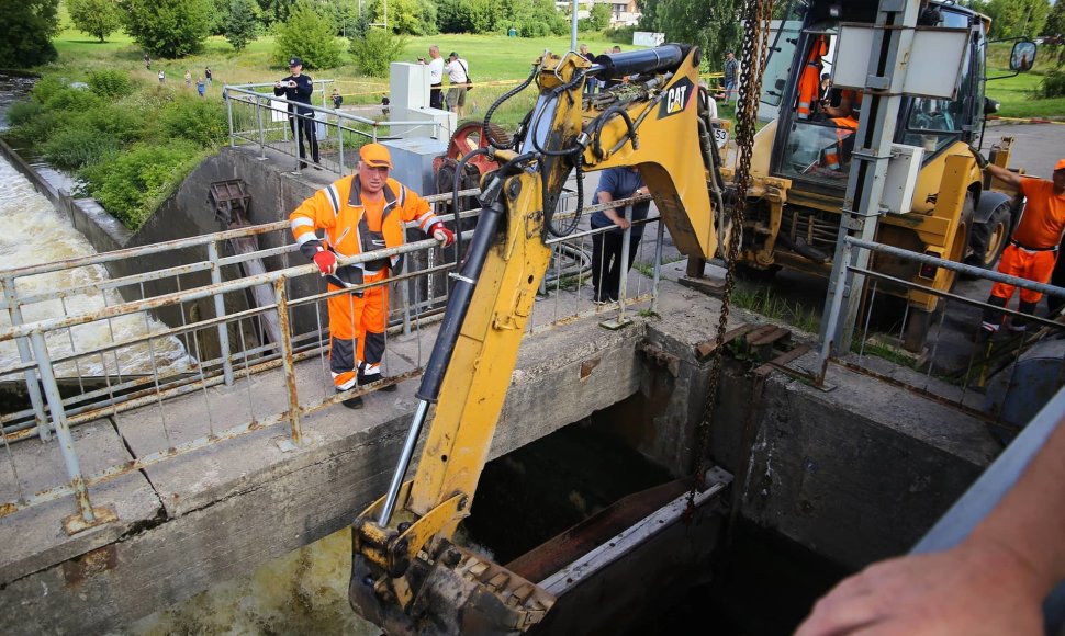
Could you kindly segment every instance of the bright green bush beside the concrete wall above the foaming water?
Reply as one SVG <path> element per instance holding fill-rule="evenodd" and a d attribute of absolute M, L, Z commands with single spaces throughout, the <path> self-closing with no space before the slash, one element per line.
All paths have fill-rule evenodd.
<path fill-rule="evenodd" d="M 200 161 L 191 141 L 141 145 L 81 170 L 85 190 L 130 229 L 138 229 Z"/>

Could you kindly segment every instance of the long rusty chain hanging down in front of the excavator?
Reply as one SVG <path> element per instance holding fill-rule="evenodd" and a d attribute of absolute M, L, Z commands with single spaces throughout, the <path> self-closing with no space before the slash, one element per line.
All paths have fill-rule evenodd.
<path fill-rule="evenodd" d="M 736 173 L 732 183 L 735 196 L 727 211 L 720 215 L 725 223 L 726 212 L 731 219 L 728 246 L 726 247 L 725 291 L 721 294 L 721 314 L 717 322 L 717 339 L 710 357 L 710 374 L 706 387 L 706 401 L 703 404 L 703 420 L 696 430 L 695 481 L 688 492 L 686 516 L 695 510 L 695 495 L 705 487 L 706 456 L 710 444 L 710 422 L 717 405 L 717 387 L 721 379 L 725 334 L 728 332 L 729 306 L 736 284 L 736 257 L 743 237 L 743 218 L 747 212 L 747 190 L 751 180 L 751 155 L 754 148 L 754 133 L 758 121 L 758 105 L 762 94 L 762 76 L 769 60 L 770 21 L 773 18 L 774 0 L 746 0 L 742 23 L 747 25 L 740 59 L 743 70 L 740 73 L 739 100 L 736 107 L 736 145 L 738 152 Z"/>

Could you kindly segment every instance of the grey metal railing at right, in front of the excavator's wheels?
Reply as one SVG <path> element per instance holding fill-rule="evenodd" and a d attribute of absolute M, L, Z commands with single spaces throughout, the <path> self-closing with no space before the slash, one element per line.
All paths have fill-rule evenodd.
<path fill-rule="evenodd" d="M 923 274 L 927 274 L 924 277 L 929 283 L 918 282 L 921 276 L 901 279 L 872 268 L 855 266 L 852 263 L 855 262 L 853 257 L 857 250 L 868 250 L 874 254 L 908 261 L 913 263 L 917 270 L 924 268 Z M 1012 384 L 1022 353 L 1036 342 L 1060 338 L 1065 333 L 1065 321 L 1053 316 L 1028 315 L 1008 307 L 990 305 L 985 300 L 987 291 L 983 288 L 971 291 L 969 295 L 982 294 L 985 299 L 967 297 L 953 291 L 957 286 L 956 283 L 951 291 L 937 289 L 931 286 L 932 279 L 938 269 L 944 269 L 953 272 L 955 281 L 961 276 L 985 280 L 1004 283 L 1018 289 L 1039 292 L 1055 298 L 1065 298 L 1065 288 L 854 237 L 848 237 L 844 240 L 841 253 L 836 258 L 841 259 L 841 262 L 847 265 L 840 268 L 838 277 L 829 281 L 830 288 L 852 289 L 852 283 L 860 276 L 868 279 L 870 282 L 865 285 L 864 318 L 861 325 L 854 326 L 855 332 L 861 330 L 861 337 L 853 339 L 852 351 L 836 351 L 836 343 L 829 338 L 820 343 L 817 376 L 819 385 L 823 386 L 828 363 L 831 361 L 948 404 L 996 427 L 1010 430 L 1023 423 L 1004 422 L 1001 412 L 983 404 L 988 381 L 995 374 L 1005 372 L 1009 374 L 1008 384 Z M 923 310 L 915 309 L 911 303 L 907 302 L 901 316 L 898 317 L 897 307 L 892 305 L 898 304 L 898 296 L 915 293 L 937 297 L 934 313 L 915 315 Z M 842 319 L 841 311 L 845 295 L 843 293 L 833 296 L 828 314 L 822 317 L 822 320 L 828 321 L 827 329 L 822 330 L 823 333 L 836 332 Z M 984 331 L 982 318 L 985 311 L 1005 315 L 1006 326 L 999 332 Z M 892 317 L 886 319 L 887 325 L 884 323 L 885 317 Z M 911 320 L 924 321 L 923 325 L 918 323 L 918 329 L 920 331 L 927 329 L 928 333 L 922 351 L 917 353 L 907 352 L 900 347 Z M 1020 327 L 1021 322 L 1023 328 Z M 892 325 L 897 332 L 893 332 Z M 904 367 L 908 366 L 908 373 L 871 364 L 871 355 L 874 353 L 879 357 L 900 362 Z M 852 362 L 855 354 L 856 362 Z M 1065 372 L 1065 361 L 1063 361 L 1062 371 Z"/>

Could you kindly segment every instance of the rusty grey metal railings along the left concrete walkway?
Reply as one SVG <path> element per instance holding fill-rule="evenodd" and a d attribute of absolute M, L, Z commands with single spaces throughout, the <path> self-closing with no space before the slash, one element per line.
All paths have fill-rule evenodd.
<path fill-rule="evenodd" d="M 461 194 L 472 193 L 475 191 Z M 450 195 L 426 198 L 439 206 L 449 202 Z M 613 205 L 625 205 L 631 218 L 631 204 L 647 198 Z M 571 217 L 575 201 L 565 196 L 561 206 L 557 218 Z M 460 217 L 474 218 L 478 214 L 463 211 Z M 453 222 L 451 215 L 440 216 Z M 626 273 L 618 302 L 606 306 L 592 304 L 585 283 L 590 277 L 591 237 L 607 228 L 549 241 L 556 255 L 529 331 L 595 315 L 608 319 L 612 326 L 624 325 L 632 304 L 650 299 L 653 308 L 663 230 L 657 218 L 636 222 L 641 224 L 658 225 L 655 240 L 643 241 L 639 248 L 640 260 L 649 263 Z M 323 292 L 316 266 L 305 263 L 302 255 L 294 261 L 299 264 L 290 262 L 298 249 L 290 242 L 288 226 L 279 222 L 0 271 L 2 307 L 11 320 L 9 328 L 0 329 L 0 347 L 16 345 L 11 348 L 16 352 L 0 357 L 0 379 L 24 385 L 30 401 L 29 407 L 0 416 L 10 468 L 0 478 L 0 518 L 74 495 L 77 514 L 66 529 L 68 533 L 78 532 L 110 519 L 92 507 L 91 488 L 271 427 L 284 427 L 288 447 L 300 447 L 307 443 L 302 424 L 305 416 L 379 388 L 358 387 L 345 394 L 334 390 L 323 304 L 347 292 Z M 623 239 L 626 252 L 631 245 L 630 231 Z M 468 239 L 472 232 L 464 236 Z M 227 245 L 250 239 L 277 247 L 226 254 Z M 396 291 L 389 307 L 384 363 L 391 378 L 386 384 L 421 373 L 423 356 L 431 347 L 430 326 L 447 300 L 444 281 L 455 266 L 453 250 L 449 254 L 430 239 L 345 262 L 396 254 L 418 258 L 421 265 L 384 283 Z M 145 269 L 152 261 L 181 264 L 111 280 L 90 280 L 85 274 L 131 261 Z M 247 266 L 253 262 L 262 266 Z M 75 308 L 71 299 L 80 296 L 90 296 L 92 302 Z M 169 325 L 154 316 L 169 316 Z M 393 355 L 393 350 L 403 355 Z M 215 390 L 208 390 L 212 387 Z M 202 406 L 197 407 L 195 418 L 176 425 L 176 416 L 169 410 L 181 397 L 186 402 L 194 398 Z M 235 412 L 243 416 L 237 418 Z M 111 457 L 103 462 L 103 468 L 86 474 L 71 428 L 101 418 L 128 418 L 124 424 L 128 428 L 121 434 L 133 431 L 141 440 L 141 451 L 133 453 L 131 448 L 133 459 Z M 31 488 L 20 479 L 20 465 L 24 470 L 26 466 L 18 442 L 30 438 L 40 438 L 57 448 L 66 480 Z M 93 464 L 100 465 L 100 458 L 96 457 Z"/>

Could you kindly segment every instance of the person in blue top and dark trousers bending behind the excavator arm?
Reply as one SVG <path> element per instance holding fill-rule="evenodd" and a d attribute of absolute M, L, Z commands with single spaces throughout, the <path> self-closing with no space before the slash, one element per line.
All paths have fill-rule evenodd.
<path fill-rule="evenodd" d="M 609 168 L 599 177 L 599 185 L 595 191 L 595 203 L 609 203 L 620 198 L 628 198 L 647 194 L 643 178 L 635 167 Z M 649 201 L 632 206 L 632 220 L 647 218 Z M 592 215 L 592 228 L 610 227 L 613 229 L 592 235 L 592 302 L 596 305 L 616 302 L 620 296 L 621 286 L 621 239 L 624 230 L 630 224 L 625 219 L 621 208 L 608 207 Z M 625 269 L 632 266 L 637 248 L 643 237 L 643 225 L 632 227 L 629 235 L 629 254 Z"/>

